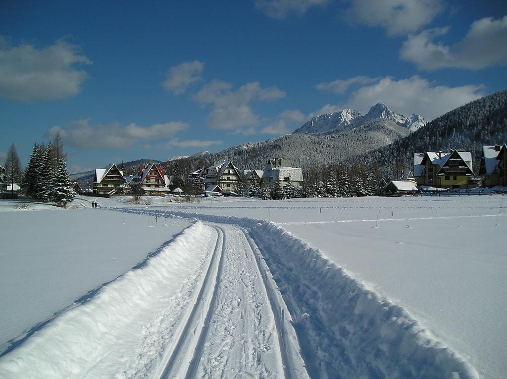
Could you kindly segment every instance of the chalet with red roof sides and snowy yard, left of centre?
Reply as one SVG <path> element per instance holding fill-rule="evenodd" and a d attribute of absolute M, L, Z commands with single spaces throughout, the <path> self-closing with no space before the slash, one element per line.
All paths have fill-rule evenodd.
<path fill-rule="evenodd" d="M 146 195 L 162 195 L 170 193 L 168 188 L 169 177 L 165 174 L 162 166 L 155 163 L 147 163 L 139 166 L 137 174 L 130 180 L 132 191 Z"/>

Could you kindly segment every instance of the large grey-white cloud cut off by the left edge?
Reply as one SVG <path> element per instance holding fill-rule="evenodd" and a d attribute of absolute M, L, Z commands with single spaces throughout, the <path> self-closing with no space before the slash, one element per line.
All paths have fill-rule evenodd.
<path fill-rule="evenodd" d="M 88 77 L 76 65 L 91 63 L 79 46 L 63 40 L 37 49 L 10 46 L 0 37 L 0 97 L 27 101 L 74 96 Z"/>

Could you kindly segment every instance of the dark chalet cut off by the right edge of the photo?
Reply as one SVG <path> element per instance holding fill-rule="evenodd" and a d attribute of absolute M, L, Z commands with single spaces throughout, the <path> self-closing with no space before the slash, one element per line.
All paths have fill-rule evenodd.
<path fill-rule="evenodd" d="M 482 147 L 479 175 L 485 187 L 507 186 L 507 144 Z"/>

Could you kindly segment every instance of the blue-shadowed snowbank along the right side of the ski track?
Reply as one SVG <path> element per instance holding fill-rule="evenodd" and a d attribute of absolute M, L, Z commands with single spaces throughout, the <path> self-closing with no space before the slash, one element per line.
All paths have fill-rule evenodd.
<path fill-rule="evenodd" d="M 475 378 L 476 369 L 407 310 L 279 226 L 251 218 L 188 212 L 125 212 L 233 223 L 250 230 L 294 320 L 313 377 Z"/>

